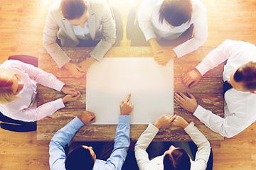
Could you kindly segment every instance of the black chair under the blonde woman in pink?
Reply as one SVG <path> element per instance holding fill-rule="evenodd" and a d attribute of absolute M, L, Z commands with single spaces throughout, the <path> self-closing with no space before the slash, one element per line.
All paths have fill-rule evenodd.
<path fill-rule="evenodd" d="M 33 57 L 30 55 L 12 55 L 8 58 L 8 60 L 19 60 L 27 64 L 32 64 L 34 67 L 38 67 L 37 57 Z M 13 132 L 31 132 L 35 131 L 37 128 L 36 122 L 24 122 L 21 120 L 14 120 L 7 117 L 6 115 L 3 115 L 1 112 L 0 120 L 1 122 L 3 122 L 0 123 L 2 129 Z"/>

